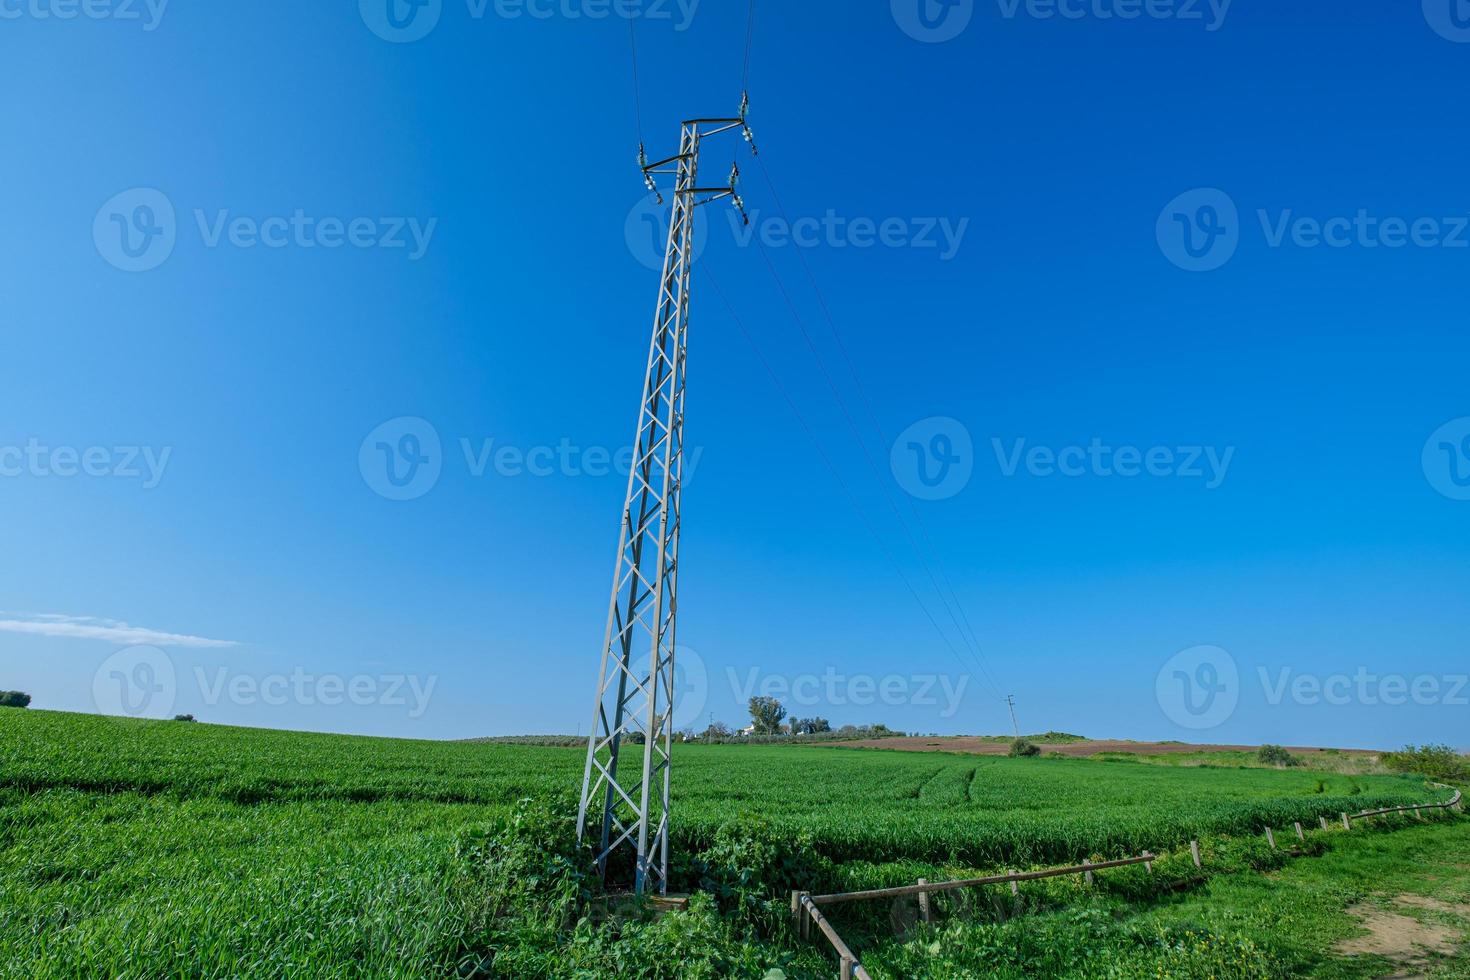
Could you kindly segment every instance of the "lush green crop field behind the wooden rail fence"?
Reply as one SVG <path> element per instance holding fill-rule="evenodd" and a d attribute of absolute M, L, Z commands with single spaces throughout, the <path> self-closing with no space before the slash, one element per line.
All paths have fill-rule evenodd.
<path fill-rule="evenodd" d="M 617 936 L 578 921 L 578 749 L 0 711 L 0 976 L 829 976 L 823 949 L 782 934 L 791 887 L 1136 854 L 1436 795 L 1405 776 L 841 748 L 675 761 L 675 877 L 713 898 Z"/>

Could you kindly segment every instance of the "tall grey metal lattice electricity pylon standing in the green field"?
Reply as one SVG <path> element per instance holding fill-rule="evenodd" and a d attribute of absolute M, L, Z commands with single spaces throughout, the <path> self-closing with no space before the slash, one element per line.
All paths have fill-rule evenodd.
<path fill-rule="evenodd" d="M 689 273 L 694 266 L 694 210 L 731 198 L 744 216 L 736 191 L 739 167 L 728 185 L 700 187 L 700 144 L 732 129 L 751 138 L 741 103 L 736 119 L 688 119 L 681 126 L 679 153 L 648 163 L 638 147 L 644 184 L 663 203 L 657 176 L 675 179 L 653 342 L 644 372 L 634 466 L 628 475 L 613 595 L 603 638 L 603 667 L 597 680 L 592 730 L 587 741 L 582 802 L 576 836 L 584 840 L 588 818 L 601 820 L 597 871 L 607 880 L 609 860 L 637 848 L 634 889 L 669 889 L 669 777 L 673 768 L 673 651 L 679 608 L 679 495 L 684 479 L 684 391 L 689 331 Z M 750 219 L 747 217 L 747 222 Z M 641 765 L 629 771 L 623 749 L 641 749 Z M 600 805 L 600 813 L 597 808 Z"/>

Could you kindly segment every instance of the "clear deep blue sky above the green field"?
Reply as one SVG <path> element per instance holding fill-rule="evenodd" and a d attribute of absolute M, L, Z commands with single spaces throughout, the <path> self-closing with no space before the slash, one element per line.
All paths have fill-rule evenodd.
<path fill-rule="evenodd" d="M 656 287 L 625 7 L 378 3 L 0 0 L 35 707 L 587 730 Z M 925 3 L 759 3 L 685 720 L 1470 748 L 1470 10 Z M 631 9 L 657 156 L 736 109 L 745 4 Z"/>

